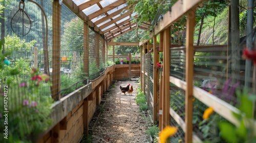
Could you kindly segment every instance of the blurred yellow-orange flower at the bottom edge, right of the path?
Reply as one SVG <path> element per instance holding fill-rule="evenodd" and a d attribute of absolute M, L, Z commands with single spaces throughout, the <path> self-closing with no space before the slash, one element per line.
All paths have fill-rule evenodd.
<path fill-rule="evenodd" d="M 160 143 L 165 143 L 165 141 L 168 139 L 168 137 L 173 136 L 177 132 L 178 128 L 166 126 L 160 133 Z"/>

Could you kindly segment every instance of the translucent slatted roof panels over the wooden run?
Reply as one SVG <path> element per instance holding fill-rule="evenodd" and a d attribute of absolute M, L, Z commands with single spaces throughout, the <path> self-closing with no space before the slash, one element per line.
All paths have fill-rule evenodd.
<path fill-rule="evenodd" d="M 104 32 L 105 35 L 109 35 L 108 36 L 109 39 L 111 39 L 113 34 L 114 35 L 122 35 L 122 34 L 120 34 L 121 31 L 129 30 L 130 27 L 131 27 L 130 26 L 131 24 L 129 22 L 125 22 L 125 23 L 122 23 L 122 22 L 125 21 L 125 20 L 129 20 L 129 19 L 131 20 L 131 16 L 134 17 L 134 16 L 137 15 L 137 13 L 132 13 L 131 16 L 126 16 L 124 18 L 119 18 L 120 16 L 122 16 L 122 14 L 125 14 L 125 13 L 129 12 L 128 10 L 125 10 L 125 7 L 127 6 L 127 3 L 125 1 L 122 1 L 122 0 L 101 0 L 101 1 L 100 0 L 99 1 L 73 0 L 73 2 L 74 3 L 72 5 L 76 5 L 77 7 L 79 7 L 80 5 L 83 4 L 79 8 L 85 8 L 85 9 L 82 9 L 82 12 L 86 16 L 89 16 L 89 17 L 92 17 L 92 18 L 96 16 L 95 18 L 91 19 L 91 21 L 94 23 L 94 26 L 97 26 L 98 28 L 102 27 L 102 29 L 100 29 L 100 30 L 102 32 Z M 84 3 L 87 3 L 87 2 L 89 2 L 88 4 L 90 4 L 90 5 L 84 5 Z M 119 4 L 119 6 L 118 6 L 118 4 Z M 102 11 L 102 12 L 99 13 L 100 15 L 97 15 L 97 13 L 95 13 L 95 12 L 99 11 L 101 8 L 105 8 L 105 7 L 108 7 L 110 5 L 113 6 L 113 8 L 111 7 L 112 8 L 111 10 Z M 87 6 L 89 6 L 89 7 L 87 7 Z M 116 6 L 116 7 L 114 7 L 114 6 Z M 109 7 L 108 7 L 108 9 L 109 9 Z M 120 13 L 115 13 L 115 15 L 113 15 L 113 16 L 108 16 L 108 15 L 113 14 L 114 12 L 117 12 L 117 11 L 120 12 Z M 93 14 L 93 15 L 91 15 L 91 14 Z M 106 17 L 106 16 L 108 16 L 108 17 Z M 104 18 L 104 19 L 102 19 L 102 18 Z M 116 18 L 118 18 L 119 20 L 117 21 Z M 106 25 L 106 23 L 108 23 L 112 20 L 114 20 L 114 21 L 110 26 Z M 122 23 L 122 24 L 120 25 L 120 23 Z M 124 26 L 126 27 L 125 29 L 124 29 Z M 112 29 L 112 30 L 108 30 L 108 29 L 111 29 L 112 27 L 115 27 L 115 28 Z M 108 30 L 108 31 L 106 31 L 106 30 Z M 112 38 L 114 38 L 114 37 L 112 37 Z"/>

